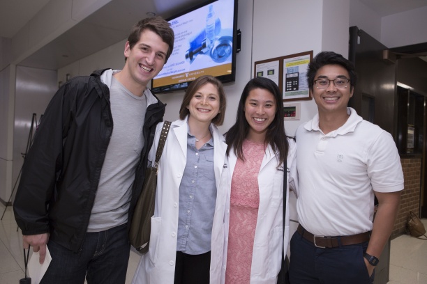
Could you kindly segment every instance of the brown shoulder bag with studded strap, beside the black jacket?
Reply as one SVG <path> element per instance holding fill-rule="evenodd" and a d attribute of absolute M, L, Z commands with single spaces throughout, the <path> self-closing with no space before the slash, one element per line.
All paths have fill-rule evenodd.
<path fill-rule="evenodd" d="M 129 241 L 140 253 L 147 253 L 149 249 L 151 217 L 154 214 L 154 203 L 156 201 L 158 162 L 162 156 L 169 129 L 170 121 L 165 121 L 158 141 L 156 160 L 153 166 L 145 170 L 144 185 L 137 200 L 135 212 L 133 212 L 132 223 L 130 223 Z"/>

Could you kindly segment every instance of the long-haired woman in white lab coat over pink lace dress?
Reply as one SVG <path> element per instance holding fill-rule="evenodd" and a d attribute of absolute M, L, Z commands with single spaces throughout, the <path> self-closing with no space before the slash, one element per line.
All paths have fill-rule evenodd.
<path fill-rule="evenodd" d="M 295 143 L 285 135 L 282 93 L 274 81 L 260 77 L 246 84 L 226 142 L 232 182 L 222 282 L 276 283 L 289 242 L 288 207 L 283 232 L 284 171 L 286 204 L 297 178 Z"/>

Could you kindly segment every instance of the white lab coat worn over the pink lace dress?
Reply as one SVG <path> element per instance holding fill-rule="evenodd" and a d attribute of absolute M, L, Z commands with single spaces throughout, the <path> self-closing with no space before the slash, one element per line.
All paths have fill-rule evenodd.
<path fill-rule="evenodd" d="M 295 189 L 298 184 L 296 167 L 296 144 L 288 139 L 290 149 L 287 155 L 287 190 L 286 203 L 289 198 L 289 189 Z M 236 166 L 237 157 L 234 150 L 230 150 L 228 166 L 230 177 Z M 281 171 L 280 171 L 281 170 Z M 253 244 L 252 267 L 250 284 L 276 284 L 277 274 L 280 271 L 282 258 L 282 244 L 285 244 L 285 253 L 289 244 L 289 206 L 286 206 L 285 235 L 283 237 L 283 164 L 278 168 L 278 160 L 271 146 L 265 152 L 258 185 L 260 187 L 260 207 L 258 209 L 257 226 Z M 231 187 L 230 187 L 231 189 Z M 225 213 L 225 235 L 228 236 L 230 221 L 230 189 L 227 193 L 227 207 Z M 227 244 L 225 238 L 221 283 L 225 283 L 225 268 L 227 266 Z"/>

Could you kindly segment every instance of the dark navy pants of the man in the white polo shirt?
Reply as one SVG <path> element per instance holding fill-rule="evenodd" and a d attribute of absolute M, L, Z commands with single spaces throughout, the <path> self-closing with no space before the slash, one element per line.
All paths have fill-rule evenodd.
<path fill-rule="evenodd" d="M 292 284 L 372 284 L 365 265 L 368 242 L 317 248 L 295 232 L 290 241 L 289 278 Z"/>

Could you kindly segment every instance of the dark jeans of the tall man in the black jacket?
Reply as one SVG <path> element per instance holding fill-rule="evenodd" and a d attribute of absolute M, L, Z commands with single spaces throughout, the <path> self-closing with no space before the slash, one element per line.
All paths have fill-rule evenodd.
<path fill-rule="evenodd" d="M 126 281 L 130 244 L 127 224 L 88 232 L 79 253 L 49 241 L 52 262 L 40 284 L 121 284 Z"/>

